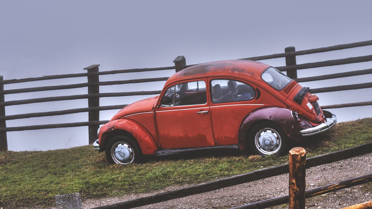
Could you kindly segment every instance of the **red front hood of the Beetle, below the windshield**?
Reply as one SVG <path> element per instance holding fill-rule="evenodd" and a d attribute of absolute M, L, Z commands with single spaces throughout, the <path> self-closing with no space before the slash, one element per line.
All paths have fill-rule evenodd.
<path fill-rule="evenodd" d="M 154 109 L 154 105 L 157 102 L 158 98 L 159 98 L 159 95 L 127 105 L 123 109 L 121 109 L 118 113 L 116 113 L 111 118 L 110 121 L 122 118 L 127 115 L 135 114 L 135 113 L 150 112 L 151 110 Z"/>

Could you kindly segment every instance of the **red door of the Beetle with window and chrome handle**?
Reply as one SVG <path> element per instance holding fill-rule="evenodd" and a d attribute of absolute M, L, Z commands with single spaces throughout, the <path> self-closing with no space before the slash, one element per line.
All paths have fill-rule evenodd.
<path fill-rule="evenodd" d="M 157 134 L 161 148 L 214 146 L 207 79 L 170 85 L 161 95 L 170 97 L 155 109 Z"/>

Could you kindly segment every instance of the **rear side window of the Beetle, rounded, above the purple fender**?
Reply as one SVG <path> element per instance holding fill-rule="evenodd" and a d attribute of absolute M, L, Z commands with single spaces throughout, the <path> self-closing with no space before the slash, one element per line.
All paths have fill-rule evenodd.
<path fill-rule="evenodd" d="M 256 97 L 256 91 L 248 84 L 234 80 L 212 80 L 211 97 L 213 103 L 248 101 Z"/>

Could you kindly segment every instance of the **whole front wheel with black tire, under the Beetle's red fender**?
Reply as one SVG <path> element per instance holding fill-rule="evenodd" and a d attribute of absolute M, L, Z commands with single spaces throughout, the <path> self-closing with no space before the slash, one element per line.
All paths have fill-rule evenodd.
<path fill-rule="evenodd" d="M 125 135 L 118 135 L 108 142 L 106 158 L 111 164 L 138 163 L 142 158 L 142 152 L 135 139 Z"/>

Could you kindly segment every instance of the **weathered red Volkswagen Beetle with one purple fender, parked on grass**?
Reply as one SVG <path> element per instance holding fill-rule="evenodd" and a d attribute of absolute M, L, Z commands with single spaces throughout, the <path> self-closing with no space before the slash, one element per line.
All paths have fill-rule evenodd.
<path fill-rule="evenodd" d="M 160 95 L 124 107 L 100 128 L 93 147 L 118 164 L 193 149 L 286 154 L 292 140 L 336 124 L 318 99 L 261 62 L 208 62 L 172 75 Z"/>

